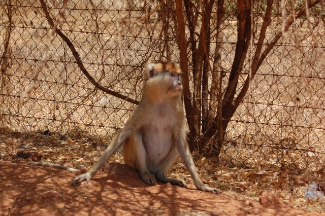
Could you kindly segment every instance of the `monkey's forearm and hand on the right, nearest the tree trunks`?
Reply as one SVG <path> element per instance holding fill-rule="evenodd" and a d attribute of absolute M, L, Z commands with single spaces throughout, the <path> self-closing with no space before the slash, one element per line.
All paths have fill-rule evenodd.
<path fill-rule="evenodd" d="M 186 134 L 185 134 L 185 136 L 186 136 Z M 193 178 L 194 185 L 197 187 L 197 189 L 200 191 L 211 192 L 213 194 L 221 194 L 221 192 L 218 189 L 204 185 L 201 182 L 201 179 L 200 179 L 198 172 L 196 170 L 196 166 L 193 162 L 192 156 L 188 150 L 188 144 L 187 144 L 186 138 L 180 138 L 177 141 L 176 145 L 177 145 L 179 154 L 181 156 L 181 159 L 184 161 L 188 171 L 190 172 L 190 174 Z"/>

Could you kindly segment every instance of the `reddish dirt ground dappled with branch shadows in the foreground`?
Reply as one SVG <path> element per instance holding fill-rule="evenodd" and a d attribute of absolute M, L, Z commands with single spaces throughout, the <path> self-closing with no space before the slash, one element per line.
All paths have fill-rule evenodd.
<path fill-rule="evenodd" d="M 201 192 L 193 185 L 148 186 L 136 171 L 118 163 L 108 164 L 106 172 L 76 188 L 70 183 L 80 173 L 23 160 L 0 160 L 0 166 L 0 215 L 325 215 L 277 201 L 262 202 L 266 208 L 227 193 Z"/>

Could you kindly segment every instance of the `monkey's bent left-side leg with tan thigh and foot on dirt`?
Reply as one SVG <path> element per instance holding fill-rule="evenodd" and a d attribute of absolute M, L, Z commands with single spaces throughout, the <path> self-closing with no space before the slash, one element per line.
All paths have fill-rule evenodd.
<path fill-rule="evenodd" d="M 139 172 L 141 179 L 147 185 L 156 184 L 156 178 L 147 169 L 147 153 L 143 145 L 141 133 L 134 133 L 130 136 L 124 143 L 123 149 L 125 164 L 136 169 Z"/>

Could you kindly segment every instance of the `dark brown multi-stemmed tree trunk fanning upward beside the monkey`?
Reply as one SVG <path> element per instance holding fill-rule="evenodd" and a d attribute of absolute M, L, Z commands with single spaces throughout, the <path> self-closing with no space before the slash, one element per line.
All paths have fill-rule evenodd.
<path fill-rule="evenodd" d="M 197 2 L 198 5 L 201 0 Z M 314 0 L 308 2 L 308 8 L 314 7 L 319 4 L 320 0 Z M 179 48 L 180 48 L 180 62 L 183 70 L 184 78 L 184 103 L 186 118 L 189 125 L 189 136 L 193 139 L 197 139 L 201 135 L 201 126 L 203 129 L 204 143 L 200 143 L 200 150 L 208 145 L 211 147 L 211 151 L 207 153 L 208 156 L 218 157 L 222 148 L 225 131 L 228 124 L 235 114 L 239 104 L 242 102 L 244 96 L 248 91 L 249 83 L 254 78 L 259 66 L 273 49 L 274 45 L 281 38 L 283 32 L 285 32 L 295 20 L 306 13 L 305 7 L 296 10 L 295 14 L 290 14 L 286 20 L 282 29 L 279 29 L 274 37 L 268 41 L 265 45 L 266 29 L 269 26 L 269 20 L 272 12 L 273 0 L 267 2 L 267 8 L 265 11 L 264 21 L 261 27 L 261 32 L 258 36 L 258 42 L 256 43 L 255 53 L 252 54 L 251 63 L 251 77 L 244 81 L 241 89 L 238 89 L 238 81 L 242 76 L 242 70 L 244 61 L 247 57 L 247 51 L 250 44 L 250 38 L 252 37 L 253 23 L 251 20 L 251 0 L 238 0 L 238 34 L 237 44 L 235 50 L 235 56 L 228 79 L 228 84 L 224 89 L 222 95 L 222 83 L 224 82 L 224 74 L 220 66 L 221 63 L 221 50 L 220 44 L 222 44 L 222 26 L 224 19 L 224 0 L 217 0 L 217 28 L 216 28 L 216 48 L 214 53 L 213 69 L 211 71 L 212 83 L 211 90 L 208 89 L 208 79 L 210 74 L 208 73 L 210 68 L 209 64 L 209 51 L 210 51 L 210 19 L 211 8 L 214 4 L 212 0 L 202 1 L 202 26 L 200 35 L 195 33 L 197 27 L 197 20 L 199 9 L 198 6 L 190 0 L 184 0 L 186 18 L 189 28 L 189 44 L 191 45 L 191 59 L 193 64 L 193 100 L 191 101 L 191 92 L 189 89 L 189 73 L 188 73 L 188 59 L 187 59 L 187 45 L 185 36 L 185 24 L 184 15 L 182 11 L 182 4 L 180 0 L 176 0 L 177 8 L 177 29 L 179 34 Z M 197 38 L 199 42 L 197 42 Z M 263 52 L 262 52 L 263 50 Z M 202 91 L 201 91 L 202 89 Z M 207 103 L 208 93 L 210 94 L 210 102 Z M 202 98 L 201 98 L 202 95 Z M 237 96 L 236 96 L 237 95 Z M 223 96 L 223 97 L 222 97 Z M 203 101 L 200 101 L 203 99 Z M 207 109 L 208 108 L 208 109 Z M 202 112 L 202 113 L 201 113 Z M 201 116 L 202 115 L 202 116 Z M 202 119 L 201 119 L 202 118 Z M 202 123 L 202 124 L 201 124 Z M 198 140 L 198 139 L 197 139 Z M 201 140 L 200 140 L 201 141 Z M 194 150 L 196 145 L 194 142 L 190 143 L 191 150 Z"/>

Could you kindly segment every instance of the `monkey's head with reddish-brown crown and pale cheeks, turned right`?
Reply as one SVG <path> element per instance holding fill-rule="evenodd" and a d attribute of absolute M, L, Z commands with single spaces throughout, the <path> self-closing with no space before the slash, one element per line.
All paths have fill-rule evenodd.
<path fill-rule="evenodd" d="M 150 63 L 144 75 L 144 92 L 157 99 L 175 97 L 183 90 L 181 68 L 173 62 Z"/>

